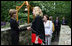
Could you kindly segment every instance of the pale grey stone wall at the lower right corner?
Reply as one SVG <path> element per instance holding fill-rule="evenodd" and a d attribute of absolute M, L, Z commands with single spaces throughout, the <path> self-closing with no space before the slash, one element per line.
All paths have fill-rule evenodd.
<path fill-rule="evenodd" d="M 61 25 L 58 45 L 71 45 L 71 29 L 69 26 Z"/>

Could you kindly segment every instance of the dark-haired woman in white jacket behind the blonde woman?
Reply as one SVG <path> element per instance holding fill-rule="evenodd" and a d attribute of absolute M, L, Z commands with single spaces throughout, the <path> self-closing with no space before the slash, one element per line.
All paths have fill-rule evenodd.
<path fill-rule="evenodd" d="M 44 15 L 44 27 L 45 27 L 45 45 L 51 45 L 51 38 L 52 38 L 52 21 L 49 20 L 47 15 Z"/>

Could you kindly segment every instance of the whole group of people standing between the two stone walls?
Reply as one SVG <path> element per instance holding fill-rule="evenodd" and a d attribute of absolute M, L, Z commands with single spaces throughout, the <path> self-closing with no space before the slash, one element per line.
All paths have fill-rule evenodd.
<path fill-rule="evenodd" d="M 19 29 L 19 24 L 16 21 L 16 12 L 15 9 L 9 10 L 10 19 L 10 35 L 12 45 L 19 45 L 19 32 L 22 30 Z M 35 19 L 32 22 L 30 27 L 24 28 L 25 30 L 32 31 L 31 34 L 31 42 L 33 45 L 51 45 L 51 39 L 54 30 L 57 31 L 57 35 L 59 35 L 60 23 L 58 17 L 54 22 L 52 16 L 43 15 L 42 10 L 36 6 L 33 8 L 33 15 L 35 15 Z M 66 24 L 65 18 L 63 18 L 62 24 Z"/>

